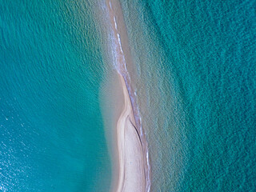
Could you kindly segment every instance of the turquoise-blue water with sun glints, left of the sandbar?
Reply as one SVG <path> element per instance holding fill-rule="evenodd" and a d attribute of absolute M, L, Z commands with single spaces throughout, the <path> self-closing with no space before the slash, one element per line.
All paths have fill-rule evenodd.
<path fill-rule="evenodd" d="M 94 1 L 0 2 L 0 190 L 106 191 Z"/>

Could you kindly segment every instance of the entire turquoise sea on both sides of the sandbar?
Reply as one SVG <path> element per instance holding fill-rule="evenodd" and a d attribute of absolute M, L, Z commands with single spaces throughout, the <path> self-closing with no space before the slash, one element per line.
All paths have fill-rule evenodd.
<path fill-rule="evenodd" d="M 150 191 L 256 191 L 256 2 L 120 2 Z M 104 3 L 0 2 L 0 191 L 110 191 Z"/>

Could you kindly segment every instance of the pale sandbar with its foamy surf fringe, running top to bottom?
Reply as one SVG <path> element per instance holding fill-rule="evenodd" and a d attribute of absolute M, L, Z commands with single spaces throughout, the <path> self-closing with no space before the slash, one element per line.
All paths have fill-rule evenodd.
<path fill-rule="evenodd" d="M 112 62 L 114 62 L 118 72 L 118 81 L 122 82 L 124 99 L 123 110 L 116 122 L 118 178 L 115 179 L 118 181 L 113 181 L 115 183 L 114 191 L 150 191 L 149 155 L 135 101 L 136 93 L 131 87 L 130 75 L 127 70 L 129 68 L 133 71 L 133 66 L 132 59 L 130 59 L 126 26 L 122 18 L 122 8 L 118 0 L 106 0 L 106 6 L 113 33 L 113 37 L 110 38 L 112 41 Z"/>

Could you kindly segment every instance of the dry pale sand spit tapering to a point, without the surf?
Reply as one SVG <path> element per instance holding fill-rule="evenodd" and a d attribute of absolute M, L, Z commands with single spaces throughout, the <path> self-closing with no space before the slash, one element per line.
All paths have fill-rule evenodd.
<path fill-rule="evenodd" d="M 117 122 L 119 176 L 116 191 L 142 192 L 145 191 L 142 143 L 134 126 L 134 114 L 126 83 L 122 75 L 119 76 L 125 105 Z"/>

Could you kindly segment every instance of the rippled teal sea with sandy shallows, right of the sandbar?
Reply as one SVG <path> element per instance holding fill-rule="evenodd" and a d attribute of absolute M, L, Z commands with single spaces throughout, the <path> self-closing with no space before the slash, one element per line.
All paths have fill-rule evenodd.
<path fill-rule="evenodd" d="M 255 2 L 121 2 L 151 190 L 255 191 Z"/>

